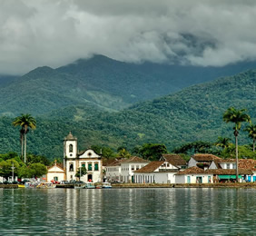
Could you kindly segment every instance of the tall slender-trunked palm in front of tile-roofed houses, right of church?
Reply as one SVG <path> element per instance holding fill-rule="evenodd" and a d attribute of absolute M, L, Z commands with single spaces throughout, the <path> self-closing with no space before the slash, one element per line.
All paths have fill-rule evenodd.
<path fill-rule="evenodd" d="M 234 123 L 234 136 L 235 136 L 235 156 L 236 156 L 236 181 L 238 182 L 238 134 L 241 129 L 241 123 L 251 122 L 250 115 L 244 113 L 246 110 L 237 110 L 234 107 L 228 108 L 223 114 L 223 121 L 226 123 Z"/>

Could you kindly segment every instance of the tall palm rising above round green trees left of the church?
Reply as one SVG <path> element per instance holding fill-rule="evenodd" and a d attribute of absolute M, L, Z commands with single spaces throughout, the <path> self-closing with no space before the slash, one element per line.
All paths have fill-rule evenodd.
<path fill-rule="evenodd" d="M 31 116 L 29 113 L 22 113 L 21 116 L 17 116 L 15 121 L 13 122 L 14 126 L 21 126 L 20 134 L 21 134 L 21 150 L 23 156 L 24 150 L 24 162 L 26 157 L 26 134 L 29 132 L 29 128 L 35 129 L 36 128 L 36 121 L 34 117 Z M 23 147 L 24 146 L 24 147 Z M 24 149 L 23 149 L 24 148 Z"/>

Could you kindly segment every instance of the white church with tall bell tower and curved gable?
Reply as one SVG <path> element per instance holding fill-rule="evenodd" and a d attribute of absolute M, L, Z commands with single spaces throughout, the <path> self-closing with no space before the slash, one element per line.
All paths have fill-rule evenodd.
<path fill-rule="evenodd" d="M 85 167 L 87 173 L 81 177 L 83 182 L 103 182 L 102 157 L 94 150 L 78 152 L 77 138 L 70 132 L 64 137 L 64 170 L 66 181 L 77 180 L 75 174 Z"/>

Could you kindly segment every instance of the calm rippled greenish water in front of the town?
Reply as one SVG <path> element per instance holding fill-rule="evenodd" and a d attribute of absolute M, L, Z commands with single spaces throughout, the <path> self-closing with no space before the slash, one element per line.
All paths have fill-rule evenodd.
<path fill-rule="evenodd" d="M 0 235 L 253 235 L 253 189 L 0 189 Z"/>

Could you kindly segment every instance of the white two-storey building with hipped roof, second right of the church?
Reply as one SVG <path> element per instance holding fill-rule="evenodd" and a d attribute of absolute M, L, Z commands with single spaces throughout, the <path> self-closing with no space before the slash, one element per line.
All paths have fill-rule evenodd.
<path fill-rule="evenodd" d="M 121 182 L 134 182 L 133 172 L 143 168 L 149 161 L 132 156 L 121 162 Z"/>

